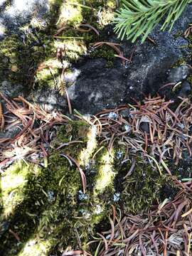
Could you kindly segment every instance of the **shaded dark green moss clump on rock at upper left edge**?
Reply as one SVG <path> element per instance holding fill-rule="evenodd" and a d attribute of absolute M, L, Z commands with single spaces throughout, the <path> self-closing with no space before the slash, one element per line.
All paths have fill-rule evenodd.
<path fill-rule="evenodd" d="M 26 89 L 33 85 L 38 65 L 50 58 L 53 52 L 48 41 L 36 44 L 31 36 L 26 36 L 26 42 L 23 43 L 16 35 L 6 37 L 0 42 L 0 57 L 3 60 L 0 64 L 1 81 L 6 79 L 14 84 L 26 85 Z"/>

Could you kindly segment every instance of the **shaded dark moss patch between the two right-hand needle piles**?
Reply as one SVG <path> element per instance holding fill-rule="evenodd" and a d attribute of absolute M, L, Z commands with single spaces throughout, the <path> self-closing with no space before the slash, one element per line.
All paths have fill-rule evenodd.
<path fill-rule="evenodd" d="M 141 213 L 144 210 L 149 210 L 154 203 L 159 203 L 164 200 L 161 198 L 162 189 L 169 187 L 173 196 L 176 192 L 174 182 L 166 175 L 159 175 L 159 172 L 144 159 L 137 157 L 134 166 L 134 171 L 126 179 L 123 178 L 129 171 L 131 163 L 122 165 L 117 176 L 116 191 L 121 193 L 120 201 L 121 208 L 124 213 Z M 121 185 L 119 185 L 121 184 Z"/>

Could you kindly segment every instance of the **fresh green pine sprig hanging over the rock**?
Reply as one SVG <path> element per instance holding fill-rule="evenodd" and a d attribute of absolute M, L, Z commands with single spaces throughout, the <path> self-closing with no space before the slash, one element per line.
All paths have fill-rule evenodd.
<path fill-rule="evenodd" d="M 164 31 L 169 26 L 169 31 L 174 26 L 175 21 L 181 16 L 187 4 L 192 0 L 122 0 L 122 7 L 117 11 L 114 18 L 114 31 L 118 38 L 132 39 L 136 41 L 142 36 L 142 43 L 166 16 L 166 20 L 161 26 Z"/>

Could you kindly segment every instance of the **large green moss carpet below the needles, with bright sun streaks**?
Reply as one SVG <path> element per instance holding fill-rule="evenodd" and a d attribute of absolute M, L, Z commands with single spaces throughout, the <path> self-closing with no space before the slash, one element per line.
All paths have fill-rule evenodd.
<path fill-rule="evenodd" d="M 126 149 L 114 144 L 110 154 L 107 145 L 100 149 L 95 142 L 95 130 L 87 122 L 71 120 L 58 130 L 51 146 L 62 146 L 50 151 L 47 168 L 20 163 L 6 171 L 1 192 L 1 223 L 7 227 L 0 233 L 2 256 L 50 255 L 68 246 L 87 249 L 90 235 L 106 225 L 112 204 L 123 213 L 141 213 L 170 196 L 167 190 L 173 193 L 170 179 L 139 157 L 124 180 L 131 165 L 121 164 Z M 85 173 L 85 194 L 80 171 L 68 156 Z M 120 196 L 114 199 L 117 193 Z M 12 208 L 5 215 L 9 203 Z M 16 242 L 9 230 L 21 241 Z"/>

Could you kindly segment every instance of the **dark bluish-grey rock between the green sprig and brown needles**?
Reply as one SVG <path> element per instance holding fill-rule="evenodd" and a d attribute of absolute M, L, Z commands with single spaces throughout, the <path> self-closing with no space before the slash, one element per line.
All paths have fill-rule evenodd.
<path fill-rule="evenodd" d="M 156 45 L 145 41 L 135 46 L 123 41 L 121 48 L 126 58 L 134 51 L 132 63 L 123 66 L 121 60 L 115 60 L 114 68 L 107 68 L 105 59 L 87 58 L 73 65 L 80 70 L 80 75 L 68 90 L 73 107 L 84 114 L 95 114 L 106 107 L 132 102 L 133 98 L 139 100 L 144 95 L 156 95 L 169 80 L 185 79 L 190 69 L 187 65 L 172 70 L 172 75 L 169 70 L 189 54 L 188 48 L 181 47 L 188 45 L 188 41 L 181 36 L 176 38 L 175 33 L 186 29 L 191 18 L 192 6 L 189 5 L 171 33 L 160 31 L 161 25 L 157 26 L 151 34 Z M 110 27 L 104 33 L 107 35 L 104 41 L 116 43 L 117 38 Z"/>

